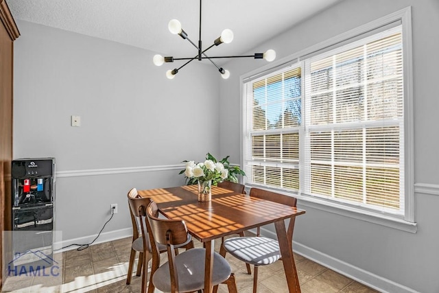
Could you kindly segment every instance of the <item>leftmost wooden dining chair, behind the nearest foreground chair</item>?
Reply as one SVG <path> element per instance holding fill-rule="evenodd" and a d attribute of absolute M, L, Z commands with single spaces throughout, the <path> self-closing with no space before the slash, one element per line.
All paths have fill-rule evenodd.
<path fill-rule="evenodd" d="M 131 253 L 130 253 L 130 261 L 128 263 L 128 275 L 126 278 L 126 283 L 129 285 L 131 283 L 132 278 L 132 270 L 134 266 L 134 259 L 136 258 L 137 252 L 139 252 L 139 262 L 137 263 L 137 273 L 136 275 L 139 277 L 143 274 L 142 278 L 142 292 L 146 292 L 146 277 L 147 276 L 147 263 L 152 259 L 152 263 L 154 261 L 160 262 L 160 258 L 153 257 L 152 255 L 152 246 L 150 242 L 150 237 L 148 233 L 143 233 L 141 230 L 141 217 L 139 214 L 139 209 L 141 207 L 146 207 L 150 204 L 150 198 L 142 198 L 139 196 L 137 189 L 132 188 L 128 191 L 128 206 L 130 207 L 130 215 L 132 222 L 132 244 L 131 244 Z M 140 224 L 139 224 L 140 223 Z M 143 237 L 145 236 L 145 237 Z M 187 241 L 183 242 L 179 247 L 184 247 L 186 249 L 193 248 L 193 241 L 190 234 L 187 234 Z M 158 250 L 160 253 L 166 252 L 166 246 L 159 246 Z M 152 265 L 153 267 L 153 265 Z M 143 270 L 142 270 L 143 268 Z M 151 272 L 152 274 L 153 272 Z"/>

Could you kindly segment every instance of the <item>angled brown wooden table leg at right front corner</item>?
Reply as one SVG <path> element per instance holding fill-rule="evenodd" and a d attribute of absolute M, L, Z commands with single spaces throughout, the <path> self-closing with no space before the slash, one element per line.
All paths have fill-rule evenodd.
<path fill-rule="evenodd" d="M 293 245 L 288 241 L 285 222 L 283 220 L 275 222 L 274 226 L 276 227 L 279 248 L 281 248 L 283 268 L 285 270 L 285 276 L 287 277 L 289 293 L 300 293 L 296 263 L 294 263 L 293 257 Z"/>

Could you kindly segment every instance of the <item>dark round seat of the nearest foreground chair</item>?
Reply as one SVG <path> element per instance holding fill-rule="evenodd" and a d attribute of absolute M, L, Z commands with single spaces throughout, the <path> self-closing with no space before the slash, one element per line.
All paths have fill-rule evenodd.
<path fill-rule="evenodd" d="M 180 292 L 192 292 L 204 288 L 204 261 L 206 250 L 192 248 L 176 255 L 175 265 L 178 271 L 178 288 Z M 230 265 L 218 253 L 213 254 L 212 284 L 217 285 L 230 277 Z M 166 262 L 154 272 L 152 276 L 154 286 L 163 292 L 171 292 L 171 277 L 169 264 Z"/>

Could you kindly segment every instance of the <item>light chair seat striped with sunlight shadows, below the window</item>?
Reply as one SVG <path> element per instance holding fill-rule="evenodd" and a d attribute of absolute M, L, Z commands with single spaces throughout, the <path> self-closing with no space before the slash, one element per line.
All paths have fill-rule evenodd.
<path fill-rule="evenodd" d="M 237 259 L 255 266 L 265 266 L 281 258 L 278 242 L 268 237 L 233 237 L 223 245 Z"/>

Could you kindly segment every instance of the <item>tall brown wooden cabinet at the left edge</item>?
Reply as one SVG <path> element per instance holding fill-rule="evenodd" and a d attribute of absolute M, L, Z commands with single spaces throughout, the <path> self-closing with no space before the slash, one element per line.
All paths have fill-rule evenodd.
<path fill-rule="evenodd" d="M 11 161 L 14 40 L 20 33 L 5 0 L 0 0 L 0 230 L 11 228 Z M 0 232 L 1 232 L 0 231 Z M 0 233 L 0 252 L 3 250 Z M 0 253 L 0 263 L 3 263 Z M 0 288 L 3 277 L 0 270 Z"/>

